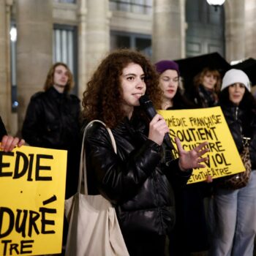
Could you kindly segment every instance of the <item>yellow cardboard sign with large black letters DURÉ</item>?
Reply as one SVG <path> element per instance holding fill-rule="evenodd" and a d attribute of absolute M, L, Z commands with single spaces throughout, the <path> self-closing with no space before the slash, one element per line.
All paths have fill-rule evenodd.
<path fill-rule="evenodd" d="M 67 151 L 0 151 L 0 255 L 61 252 Z"/>

